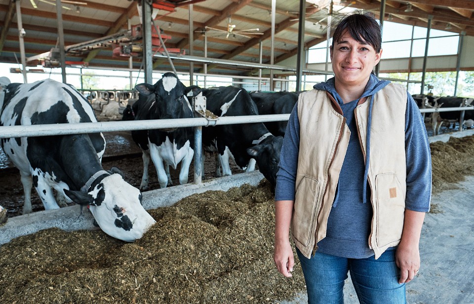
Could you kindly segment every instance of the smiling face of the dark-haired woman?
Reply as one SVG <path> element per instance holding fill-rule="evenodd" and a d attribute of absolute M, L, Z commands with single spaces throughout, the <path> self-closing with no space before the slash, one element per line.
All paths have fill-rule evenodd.
<path fill-rule="evenodd" d="M 381 55 L 382 50 L 377 53 L 372 45 L 358 42 L 346 30 L 340 41 L 335 41 L 331 47 L 332 69 L 337 84 L 365 86 Z"/>

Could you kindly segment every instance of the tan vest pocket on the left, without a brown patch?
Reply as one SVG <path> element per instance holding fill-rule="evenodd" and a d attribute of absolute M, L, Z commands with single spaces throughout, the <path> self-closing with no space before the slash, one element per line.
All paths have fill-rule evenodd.
<path fill-rule="evenodd" d="M 316 179 L 305 176 L 296 187 L 295 203 L 291 216 L 291 233 L 305 247 L 310 243 L 314 233 L 316 212 L 319 210 L 319 183 Z"/>

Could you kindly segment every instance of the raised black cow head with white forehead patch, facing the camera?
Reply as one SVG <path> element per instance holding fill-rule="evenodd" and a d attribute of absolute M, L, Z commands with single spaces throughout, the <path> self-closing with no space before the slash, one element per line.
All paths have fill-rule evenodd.
<path fill-rule="evenodd" d="M 190 113 L 192 108 L 188 97 L 196 96 L 200 92 L 197 86 L 187 88 L 176 75 L 165 73 L 154 85 L 140 83 L 135 86 L 138 92 L 149 96 L 155 94 L 156 113 L 153 119 L 170 119 L 183 117 L 182 111 Z"/>

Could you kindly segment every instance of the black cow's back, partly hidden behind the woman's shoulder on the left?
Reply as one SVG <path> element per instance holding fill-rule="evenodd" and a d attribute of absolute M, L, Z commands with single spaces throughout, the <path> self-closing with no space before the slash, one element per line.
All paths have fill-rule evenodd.
<path fill-rule="evenodd" d="M 258 114 L 290 114 L 298 101 L 293 92 L 250 92 L 250 97 L 257 104 Z M 265 126 L 275 136 L 284 136 L 288 121 L 265 122 Z"/>

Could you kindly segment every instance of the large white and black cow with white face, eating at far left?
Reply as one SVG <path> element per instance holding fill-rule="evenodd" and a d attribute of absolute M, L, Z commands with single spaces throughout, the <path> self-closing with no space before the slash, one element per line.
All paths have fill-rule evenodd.
<path fill-rule="evenodd" d="M 2 93 L 1 126 L 97 121 L 91 105 L 74 87 L 52 79 L 11 83 Z M 34 185 L 45 210 L 59 208 L 55 190 L 68 202 L 87 206 L 94 224 L 110 236 L 124 241 L 141 238 L 155 220 L 141 205 L 140 190 L 115 170 L 103 169 L 105 144 L 102 133 L 2 139 L 3 151 L 20 170 L 23 214 L 32 212 Z"/>

